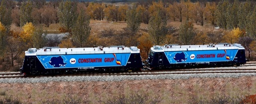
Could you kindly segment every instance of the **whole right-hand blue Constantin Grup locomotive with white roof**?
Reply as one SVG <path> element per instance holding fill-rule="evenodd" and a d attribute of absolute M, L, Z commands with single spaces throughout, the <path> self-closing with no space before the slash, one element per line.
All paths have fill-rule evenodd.
<path fill-rule="evenodd" d="M 240 44 L 153 46 L 146 60 L 150 69 L 191 66 L 232 66 L 246 63 Z"/>

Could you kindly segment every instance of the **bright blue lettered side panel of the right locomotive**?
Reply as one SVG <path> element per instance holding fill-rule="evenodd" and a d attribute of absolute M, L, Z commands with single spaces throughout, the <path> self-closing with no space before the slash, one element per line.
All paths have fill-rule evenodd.
<path fill-rule="evenodd" d="M 233 61 L 238 50 L 213 51 L 182 51 L 164 52 L 170 64 L 172 63 L 204 63 L 217 61 Z"/>

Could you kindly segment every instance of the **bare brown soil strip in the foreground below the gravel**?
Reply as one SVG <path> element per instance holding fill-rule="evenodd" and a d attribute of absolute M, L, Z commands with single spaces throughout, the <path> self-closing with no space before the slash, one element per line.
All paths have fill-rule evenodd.
<path fill-rule="evenodd" d="M 239 78 L 189 78 L 176 80 L 125 80 L 116 82 L 0 83 L 0 99 L 9 96 L 22 104 L 81 99 L 82 104 L 103 104 L 119 96 L 144 94 L 158 104 L 187 104 L 215 95 L 235 97 L 256 94 L 256 76 Z M 190 102 L 191 103 L 191 102 Z"/>

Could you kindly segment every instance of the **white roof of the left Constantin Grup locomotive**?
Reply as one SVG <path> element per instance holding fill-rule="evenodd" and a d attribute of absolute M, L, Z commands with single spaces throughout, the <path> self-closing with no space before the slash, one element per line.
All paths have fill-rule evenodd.
<path fill-rule="evenodd" d="M 96 47 L 96 48 L 30 48 L 25 55 L 98 54 L 98 53 L 139 53 L 137 47 Z"/>

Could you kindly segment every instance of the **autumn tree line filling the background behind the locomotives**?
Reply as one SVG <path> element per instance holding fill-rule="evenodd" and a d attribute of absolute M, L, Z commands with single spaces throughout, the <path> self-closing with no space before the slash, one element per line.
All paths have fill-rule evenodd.
<path fill-rule="evenodd" d="M 138 0 L 130 5 L 71 0 L 1 0 L 0 57 L 13 61 L 28 48 L 91 47 L 93 45 L 138 46 L 143 58 L 152 45 L 204 43 L 241 43 L 251 54 L 256 37 L 256 2 L 229 1 L 191 2 L 190 0 Z M 105 29 L 91 35 L 90 20 L 125 21 L 123 30 Z M 179 21 L 179 28 L 168 22 Z M 147 24 L 140 29 L 140 24 Z M 10 30 L 11 24 L 22 31 Z M 51 24 L 69 35 L 62 41 L 47 36 Z M 219 26 L 218 31 L 200 31 L 194 24 Z M 107 41 L 106 41 L 107 40 Z M 114 44 L 113 44 L 114 42 Z M 22 47 L 20 47 L 22 46 Z"/>

